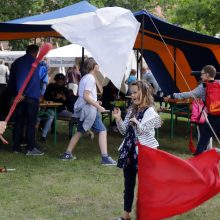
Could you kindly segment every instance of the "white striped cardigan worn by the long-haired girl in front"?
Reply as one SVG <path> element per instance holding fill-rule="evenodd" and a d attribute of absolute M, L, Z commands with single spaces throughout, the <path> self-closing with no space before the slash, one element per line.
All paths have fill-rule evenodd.
<path fill-rule="evenodd" d="M 131 115 L 131 110 L 128 111 L 125 116 L 124 121 L 120 120 L 117 123 L 118 130 L 122 135 L 125 135 L 126 129 L 128 127 L 129 119 Z M 142 118 L 142 120 L 137 124 L 135 129 L 135 134 L 138 141 L 148 147 L 157 148 L 159 146 L 158 141 L 155 138 L 155 128 L 161 126 L 161 119 L 153 107 L 149 107 Z M 123 141 L 124 142 L 124 141 Z M 121 146 L 123 145 L 123 142 Z M 120 147 L 121 147 L 120 146 Z"/>

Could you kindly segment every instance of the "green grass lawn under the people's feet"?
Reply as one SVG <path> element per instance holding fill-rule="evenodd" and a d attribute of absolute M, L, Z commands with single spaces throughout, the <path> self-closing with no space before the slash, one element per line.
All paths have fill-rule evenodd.
<path fill-rule="evenodd" d="M 97 139 L 80 140 L 75 151 L 77 160 L 58 159 L 68 143 L 67 129 L 66 123 L 59 122 L 56 146 L 52 135 L 45 144 L 39 143 L 45 151 L 42 157 L 12 154 L 10 146 L 1 145 L 0 166 L 16 168 L 16 171 L 0 173 L 0 219 L 113 220 L 122 213 L 122 171 L 100 165 Z M 6 135 L 11 143 L 11 132 Z M 186 122 L 181 120 L 175 126 L 175 138 L 170 140 L 169 122 L 165 119 L 159 130 L 161 148 L 180 157 L 189 157 L 187 135 Z M 121 140 L 119 134 L 109 132 L 109 153 L 115 159 Z M 171 219 L 218 220 L 219 204 L 220 197 L 216 196 Z"/>

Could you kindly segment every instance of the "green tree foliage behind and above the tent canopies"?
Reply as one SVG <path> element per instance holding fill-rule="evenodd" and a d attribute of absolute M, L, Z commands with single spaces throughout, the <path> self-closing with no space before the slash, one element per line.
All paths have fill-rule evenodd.
<path fill-rule="evenodd" d="M 79 0 L 1 0 L 0 21 L 46 13 L 77 2 Z M 88 2 L 98 8 L 119 6 L 132 12 L 146 9 L 153 13 L 155 7 L 159 5 L 165 18 L 171 23 L 203 34 L 220 33 L 220 13 L 218 13 L 220 0 L 89 0 Z M 67 44 L 67 41 L 62 39 L 54 41 L 58 41 L 60 46 Z M 35 39 L 10 41 L 10 45 L 15 50 L 25 49 L 30 42 L 35 42 Z"/>

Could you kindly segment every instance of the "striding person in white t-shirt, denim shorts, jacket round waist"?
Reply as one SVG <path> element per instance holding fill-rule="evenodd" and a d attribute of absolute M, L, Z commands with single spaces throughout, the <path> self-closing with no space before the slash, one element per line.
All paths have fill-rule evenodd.
<path fill-rule="evenodd" d="M 74 105 L 74 117 L 79 118 L 77 132 L 71 138 L 66 152 L 61 156 L 62 160 L 75 159 L 72 155 L 77 142 L 83 133 L 93 129 L 99 133 L 99 147 L 101 151 L 102 165 L 116 165 L 107 152 L 107 132 L 100 116 L 100 112 L 105 112 L 105 108 L 97 100 L 96 74 L 99 65 L 93 58 L 88 58 L 84 63 L 85 75 L 79 82 L 79 97 Z"/>

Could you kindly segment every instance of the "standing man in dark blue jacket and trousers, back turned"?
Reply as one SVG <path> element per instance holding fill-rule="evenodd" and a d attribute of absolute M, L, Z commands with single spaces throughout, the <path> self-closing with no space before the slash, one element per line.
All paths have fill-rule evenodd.
<path fill-rule="evenodd" d="M 13 90 L 13 94 L 15 96 L 18 94 L 24 83 L 24 80 L 28 76 L 32 64 L 36 60 L 38 51 L 39 47 L 37 45 L 29 45 L 27 47 L 26 54 L 22 57 L 19 57 L 12 63 L 9 86 Z M 38 118 L 39 98 L 40 77 L 39 66 L 37 66 L 15 110 L 15 125 L 13 129 L 13 150 L 15 152 L 22 152 L 21 140 L 24 129 L 26 128 L 26 155 L 43 155 L 43 153 L 36 148 L 35 142 L 35 126 Z"/>

